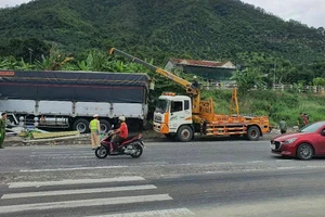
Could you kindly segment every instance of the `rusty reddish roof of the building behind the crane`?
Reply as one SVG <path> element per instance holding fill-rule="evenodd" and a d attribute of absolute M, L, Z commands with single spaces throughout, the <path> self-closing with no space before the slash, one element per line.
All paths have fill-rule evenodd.
<path fill-rule="evenodd" d="M 197 60 L 186 60 L 186 59 L 170 59 L 169 61 L 177 65 L 235 68 L 235 65 L 230 61 L 217 62 L 217 61 L 197 61 Z"/>

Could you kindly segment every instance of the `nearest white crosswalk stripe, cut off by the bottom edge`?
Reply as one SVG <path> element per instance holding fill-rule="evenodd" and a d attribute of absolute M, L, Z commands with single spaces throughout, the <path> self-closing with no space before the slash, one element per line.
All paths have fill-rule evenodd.
<path fill-rule="evenodd" d="M 194 216 L 188 208 L 173 208 L 173 209 L 161 209 L 161 210 L 147 210 L 136 213 L 125 213 L 125 214 L 113 214 L 102 216 L 88 216 L 88 217 L 172 217 L 172 216 Z"/>

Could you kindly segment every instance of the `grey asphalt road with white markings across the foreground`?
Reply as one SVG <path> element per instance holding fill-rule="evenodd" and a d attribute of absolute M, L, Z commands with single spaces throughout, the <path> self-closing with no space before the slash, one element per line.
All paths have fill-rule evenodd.
<path fill-rule="evenodd" d="M 268 141 L 147 143 L 98 159 L 90 146 L 0 150 L 0 216 L 325 216 L 325 158 Z"/>

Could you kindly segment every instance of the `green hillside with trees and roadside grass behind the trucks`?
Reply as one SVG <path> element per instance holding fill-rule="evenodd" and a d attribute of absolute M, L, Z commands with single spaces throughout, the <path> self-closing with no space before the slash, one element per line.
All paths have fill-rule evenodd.
<path fill-rule="evenodd" d="M 242 113 L 270 115 L 273 124 L 285 117 L 295 125 L 300 112 L 311 120 L 325 119 L 324 97 L 260 87 L 273 81 L 324 86 L 323 30 L 284 22 L 238 0 L 34 0 L 0 10 L 0 68 L 146 72 L 156 77 L 156 98 L 164 90 L 183 90 L 120 56 L 108 58 L 110 46 L 158 66 L 172 56 L 231 60 L 244 65 L 236 74 L 244 87 Z M 69 52 L 74 60 L 61 64 Z M 249 92 L 255 86 L 259 91 Z M 203 95 L 214 99 L 216 112 L 227 113 L 230 91 Z"/>

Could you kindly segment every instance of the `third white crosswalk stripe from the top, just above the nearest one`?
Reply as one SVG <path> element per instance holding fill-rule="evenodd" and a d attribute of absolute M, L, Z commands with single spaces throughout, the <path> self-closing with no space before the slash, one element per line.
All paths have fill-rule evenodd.
<path fill-rule="evenodd" d="M 168 194 L 152 194 L 141 196 L 121 196 L 121 197 L 108 197 L 108 199 L 91 199 L 91 200 L 78 200 L 78 201 L 61 201 L 51 203 L 37 203 L 37 204 L 24 204 L 24 205 L 11 205 L 0 206 L 0 214 L 26 212 L 26 210 L 46 210 L 53 208 L 76 208 L 88 206 L 104 206 L 116 204 L 129 204 L 129 203 L 143 203 L 154 201 L 170 201 Z"/>

